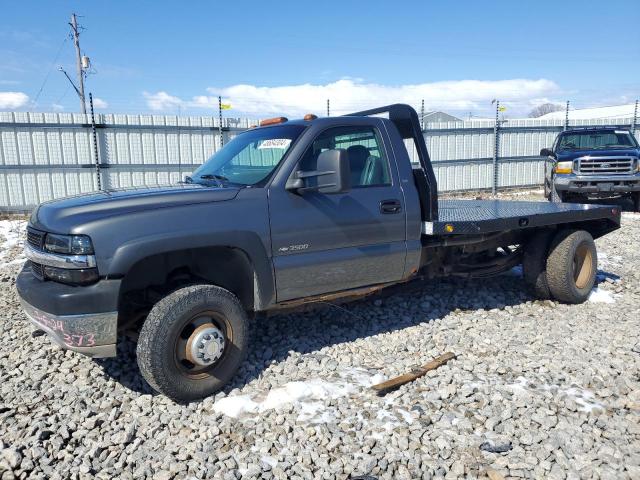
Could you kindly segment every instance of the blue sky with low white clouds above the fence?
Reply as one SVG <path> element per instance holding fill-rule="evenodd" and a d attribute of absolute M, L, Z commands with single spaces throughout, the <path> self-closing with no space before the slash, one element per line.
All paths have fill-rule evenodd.
<path fill-rule="evenodd" d="M 523 117 L 640 97 L 638 0 L 5 1 L 0 110 L 77 112 L 69 17 L 102 113 L 296 116 L 389 103 Z"/>

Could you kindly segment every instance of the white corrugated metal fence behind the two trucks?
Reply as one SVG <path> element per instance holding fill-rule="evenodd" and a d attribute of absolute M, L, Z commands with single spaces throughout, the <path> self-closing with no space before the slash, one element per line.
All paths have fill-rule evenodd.
<path fill-rule="evenodd" d="M 0 211 L 97 188 L 90 118 L 69 113 L 0 112 Z M 215 117 L 100 114 L 96 117 L 103 188 L 175 183 L 220 148 Z M 226 118 L 224 143 L 258 123 Z M 632 118 L 572 121 L 632 128 Z M 550 147 L 564 120 L 509 120 L 499 129 L 497 172 L 491 120 L 427 123 L 424 136 L 441 192 L 535 186 L 542 183 L 540 149 Z M 640 129 L 636 129 L 640 137 Z M 412 161 L 415 147 L 407 143 Z M 247 162 L 251 162 L 247 158 Z M 497 175 L 495 175 L 497 173 Z M 497 182 L 494 185 L 494 181 Z"/>

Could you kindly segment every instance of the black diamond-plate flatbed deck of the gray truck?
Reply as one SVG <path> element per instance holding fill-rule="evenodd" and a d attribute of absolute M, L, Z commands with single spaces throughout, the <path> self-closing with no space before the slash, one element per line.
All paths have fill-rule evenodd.
<path fill-rule="evenodd" d="M 438 220 L 422 223 L 428 236 L 470 235 L 589 220 L 620 224 L 620 208 L 580 203 L 511 200 L 438 200 Z"/>

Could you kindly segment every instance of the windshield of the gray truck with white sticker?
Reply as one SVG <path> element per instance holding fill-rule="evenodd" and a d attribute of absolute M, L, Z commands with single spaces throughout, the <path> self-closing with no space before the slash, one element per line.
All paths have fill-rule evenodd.
<path fill-rule="evenodd" d="M 282 125 L 241 133 L 216 152 L 188 182 L 258 185 L 269 178 L 304 130 Z"/>

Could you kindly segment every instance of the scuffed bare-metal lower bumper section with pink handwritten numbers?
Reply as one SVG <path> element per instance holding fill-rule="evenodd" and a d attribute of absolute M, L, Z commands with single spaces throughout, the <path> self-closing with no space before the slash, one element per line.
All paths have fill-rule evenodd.
<path fill-rule="evenodd" d="M 89 357 L 115 357 L 118 312 L 53 315 L 20 299 L 31 323 L 62 348 Z"/>

